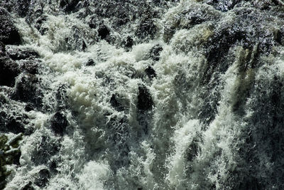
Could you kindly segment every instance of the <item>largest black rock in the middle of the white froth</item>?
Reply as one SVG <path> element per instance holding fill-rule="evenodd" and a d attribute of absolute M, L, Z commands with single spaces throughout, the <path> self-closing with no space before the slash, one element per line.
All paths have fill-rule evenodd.
<path fill-rule="evenodd" d="M 139 85 L 138 90 L 138 110 L 142 112 L 151 110 L 154 105 L 154 102 L 152 100 L 151 94 L 148 92 L 148 89 L 144 85 Z"/>

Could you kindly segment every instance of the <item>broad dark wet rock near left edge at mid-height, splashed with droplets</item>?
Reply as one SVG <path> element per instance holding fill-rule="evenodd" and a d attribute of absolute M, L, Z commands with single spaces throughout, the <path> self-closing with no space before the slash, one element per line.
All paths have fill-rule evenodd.
<path fill-rule="evenodd" d="M 43 106 L 43 93 L 40 90 L 40 81 L 35 75 L 27 74 L 16 83 L 16 89 L 11 95 L 13 100 L 29 102 L 35 107 Z"/>

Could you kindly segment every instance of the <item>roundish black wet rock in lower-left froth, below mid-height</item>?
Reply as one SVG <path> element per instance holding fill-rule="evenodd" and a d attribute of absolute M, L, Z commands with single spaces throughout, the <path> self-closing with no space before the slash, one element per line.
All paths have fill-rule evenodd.
<path fill-rule="evenodd" d="M 61 136 L 65 133 L 68 121 L 61 112 L 56 112 L 55 115 L 50 120 L 50 127 L 55 132 L 55 134 L 60 134 Z"/>

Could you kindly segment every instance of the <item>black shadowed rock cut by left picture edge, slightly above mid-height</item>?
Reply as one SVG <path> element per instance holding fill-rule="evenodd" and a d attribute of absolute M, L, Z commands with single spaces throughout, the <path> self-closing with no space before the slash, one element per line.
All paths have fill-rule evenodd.
<path fill-rule="evenodd" d="M 13 87 L 20 74 L 18 64 L 9 58 L 0 58 L 0 85 Z"/>

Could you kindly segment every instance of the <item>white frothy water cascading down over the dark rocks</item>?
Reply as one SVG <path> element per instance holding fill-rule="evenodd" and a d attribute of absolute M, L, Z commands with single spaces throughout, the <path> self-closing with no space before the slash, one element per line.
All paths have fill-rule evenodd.
<path fill-rule="evenodd" d="M 174 25 L 175 16 L 187 9 L 185 4 L 195 3 L 181 2 L 157 24 Z M 218 114 L 205 127 L 197 116 L 203 102 L 200 94 L 204 91 L 200 82 L 207 64 L 200 46 L 212 35 L 208 23 L 189 30 L 180 29 L 170 43 L 163 42 L 163 32 L 160 32 L 155 40 L 133 46 L 126 52 L 106 41 L 94 43 L 96 31 L 90 31 L 75 16 L 48 16 L 45 22 L 48 33 L 43 36 L 23 19 L 18 20 L 26 47 L 38 51 L 48 68 L 41 74 L 50 90 L 45 94 L 44 104 L 54 105 L 54 93 L 60 85 L 67 87 L 70 125 L 67 135 L 60 139 L 59 153 L 53 156 L 60 160 L 59 172 L 49 179 L 46 189 L 209 189 L 212 184 L 216 184 L 216 189 L 224 189 L 222 182 L 229 180 L 230 172 L 237 170 L 237 163 L 241 162 L 238 154 L 244 143 L 241 132 L 247 125 L 232 111 L 239 100 L 240 86 L 251 83 L 253 78 L 269 78 L 266 69 L 279 69 L 278 74 L 283 78 L 283 60 L 239 78 L 238 64 L 243 51 L 236 48 L 234 63 L 226 73 L 220 74 L 223 90 Z M 72 26 L 84 33 L 88 44 L 93 43 L 84 52 L 68 50 L 65 38 L 73 32 Z M 144 70 L 151 65 L 148 51 L 156 44 L 163 47 L 160 60 L 153 65 L 157 77 L 153 81 L 133 78 L 133 74 L 145 75 Z M 86 66 L 89 59 L 95 65 Z M 151 134 L 143 132 L 137 121 L 139 84 L 149 89 L 155 105 L 151 116 L 145 119 Z M 125 110 L 111 107 L 112 94 L 119 95 Z M 247 110 L 246 117 L 252 112 Z M 23 181 L 33 179 L 40 169 L 47 167 L 31 162 L 31 152 L 37 149 L 43 134 L 51 142 L 59 141 L 46 127 L 52 115 L 32 111 L 28 116 L 36 130 L 21 142 L 21 167 L 13 172 L 6 189 L 18 189 Z M 127 125 L 121 131 L 111 129 L 109 125 L 114 118 L 116 121 L 126 118 Z M 117 131 L 127 131 L 129 136 L 123 139 L 121 134 L 121 142 L 112 143 L 111 135 Z M 127 156 L 121 155 L 120 145 L 129 148 Z M 124 160 L 126 157 L 129 161 Z M 114 161 L 121 159 L 127 164 L 115 168 Z"/>

